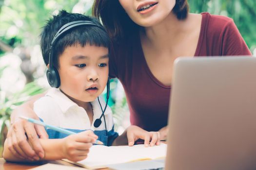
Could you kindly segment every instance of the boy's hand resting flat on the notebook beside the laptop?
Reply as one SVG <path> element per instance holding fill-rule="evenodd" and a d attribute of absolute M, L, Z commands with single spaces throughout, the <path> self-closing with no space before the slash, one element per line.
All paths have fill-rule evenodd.
<path fill-rule="evenodd" d="M 144 145 L 146 147 L 160 144 L 159 132 L 148 132 L 138 126 L 130 126 L 126 131 L 129 146 L 133 146 L 134 142 L 138 139 L 144 139 Z"/>

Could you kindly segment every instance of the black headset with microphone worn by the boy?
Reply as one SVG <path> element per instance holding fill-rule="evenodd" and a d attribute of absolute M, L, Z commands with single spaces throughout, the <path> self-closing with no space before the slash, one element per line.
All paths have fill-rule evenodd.
<path fill-rule="evenodd" d="M 55 87 L 55 88 L 59 88 L 60 85 L 60 78 L 59 78 L 59 72 L 58 70 L 52 65 L 53 63 L 53 52 L 52 49 L 54 48 L 55 43 L 57 42 L 57 40 L 59 39 L 59 37 L 61 35 L 63 35 L 64 33 L 66 33 L 67 31 L 75 28 L 75 27 L 79 27 L 79 26 L 83 26 L 83 25 L 88 25 L 88 26 L 95 26 L 98 27 L 100 29 L 102 29 L 104 32 L 105 29 L 101 26 L 101 25 L 97 25 L 92 21 L 86 21 L 86 20 L 78 20 L 78 21 L 73 21 L 73 22 L 69 22 L 65 25 L 63 25 L 59 31 L 54 35 L 53 40 L 51 42 L 51 47 L 50 47 L 50 53 L 49 53 L 49 68 L 47 69 L 46 72 L 46 76 L 47 76 L 47 80 L 48 83 L 50 84 L 51 87 Z M 106 33 L 107 34 L 107 33 Z M 107 105 L 108 105 L 108 99 L 109 99 L 109 91 L 110 91 L 110 82 L 109 82 L 109 78 L 108 78 L 108 82 L 107 82 L 107 101 L 106 101 L 106 105 L 104 107 L 104 110 L 101 107 L 101 104 L 99 102 L 102 114 L 100 116 L 100 118 L 96 119 L 94 122 L 94 127 L 99 127 L 99 125 L 101 124 L 101 117 L 104 116 L 104 113 L 106 111 Z M 105 120 L 105 116 L 104 116 L 104 121 L 105 121 L 105 128 L 106 128 L 106 120 Z M 106 133 L 107 133 L 107 128 L 106 128 Z"/>

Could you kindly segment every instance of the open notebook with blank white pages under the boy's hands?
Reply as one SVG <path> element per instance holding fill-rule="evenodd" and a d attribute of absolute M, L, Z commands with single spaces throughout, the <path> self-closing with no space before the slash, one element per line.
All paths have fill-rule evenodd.
<path fill-rule="evenodd" d="M 134 146 L 103 146 L 94 145 L 90 148 L 88 157 L 79 162 L 72 162 L 87 169 L 106 168 L 107 165 L 126 163 L 138 160 L 158 159 L 166 156 L 167 145 L 161 143 L 154 147 L 145 147 L 144 144 Z"/>

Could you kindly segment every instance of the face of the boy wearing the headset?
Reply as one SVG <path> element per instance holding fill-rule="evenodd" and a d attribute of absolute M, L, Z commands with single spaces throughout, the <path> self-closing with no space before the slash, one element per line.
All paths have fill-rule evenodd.
<path fill-rule="evenodd" d="M 75 100 L 94 101 L 106 86 L 108 61 L 105 47 L 67 47 L 59 56 L 59 88 Z"/>

